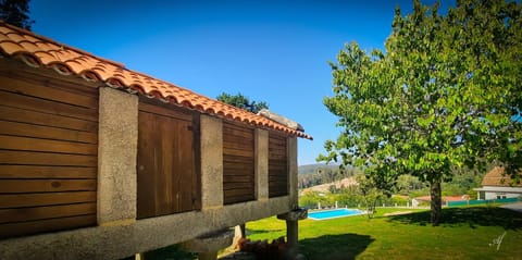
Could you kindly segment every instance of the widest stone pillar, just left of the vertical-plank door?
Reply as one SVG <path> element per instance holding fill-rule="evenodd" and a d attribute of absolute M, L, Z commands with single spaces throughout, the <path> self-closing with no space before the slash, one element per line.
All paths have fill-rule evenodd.
<path fill-rule="evenodd" d="M 138 97 L 100 87 L 98 224 L 136 221 Z"/>

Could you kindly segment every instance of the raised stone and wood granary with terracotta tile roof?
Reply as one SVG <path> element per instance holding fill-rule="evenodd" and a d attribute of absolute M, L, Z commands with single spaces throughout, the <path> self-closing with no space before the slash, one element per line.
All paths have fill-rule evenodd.
<path fill-rule="evenodd" d="M 0 95 L 0 259 L 121 259 L 276 214 L 297 239 L 300 128 L 3 22 Z"/>

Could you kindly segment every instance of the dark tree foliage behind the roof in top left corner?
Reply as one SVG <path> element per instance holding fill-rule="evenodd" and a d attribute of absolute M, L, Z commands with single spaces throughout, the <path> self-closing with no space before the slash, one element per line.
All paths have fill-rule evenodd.
<path fill-rule="evenodd" d="M 0 0 L 0 20 L 30 30 L 35 21 L 29 18 L 29 0 Z"/>

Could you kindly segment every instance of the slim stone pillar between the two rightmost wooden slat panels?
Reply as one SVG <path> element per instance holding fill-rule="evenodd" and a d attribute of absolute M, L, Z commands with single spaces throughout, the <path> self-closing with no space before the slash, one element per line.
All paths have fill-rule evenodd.
<path fill-rule="evenodd" d="M 269 199 L 269 132 L 256 128 L 256 198 Z"/>

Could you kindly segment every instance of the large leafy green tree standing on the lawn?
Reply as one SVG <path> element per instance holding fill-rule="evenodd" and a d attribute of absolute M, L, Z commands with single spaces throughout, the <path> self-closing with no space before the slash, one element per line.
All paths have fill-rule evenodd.
<path fill-rule="evenodd" d="M 397 8 L 385 52 L 353 42 L 331 63 L 324 104 L 344 132 L 318 159 L 363 166 L 385 188 L 401 174 L 427 182 L 438 225 L 452 168 L 522 161 L 521 15 L 499 0 L 460 0 L 446 15 L 419 0 L 406 16 Z"/>

